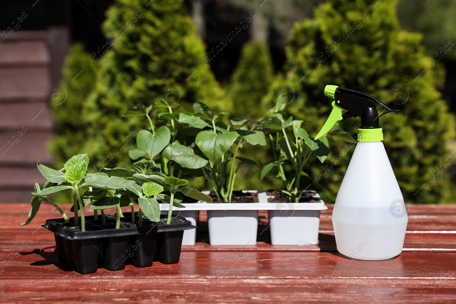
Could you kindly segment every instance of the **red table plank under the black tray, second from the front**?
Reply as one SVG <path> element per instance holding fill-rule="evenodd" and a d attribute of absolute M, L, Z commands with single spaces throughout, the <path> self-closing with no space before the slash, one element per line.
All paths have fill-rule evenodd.
<path fill-rule="evenodd" d="M 456 271 L 456 253 L 402 252 L 386 261 L 360 261 L 328 252 L 182 252 L 177 264 L 79 274 L 55 252 L 0 252 L 2 277 L 27 278 L 446 278 Z"/>

